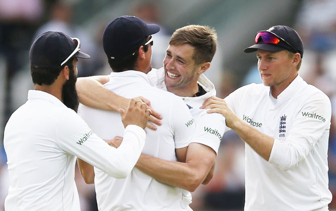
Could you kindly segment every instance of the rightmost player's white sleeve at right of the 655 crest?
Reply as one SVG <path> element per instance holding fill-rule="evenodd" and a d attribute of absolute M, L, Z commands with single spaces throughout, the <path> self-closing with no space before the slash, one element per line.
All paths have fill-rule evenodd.
<path fill-rule="evenodd" d="M 320 94 L 321 95 L 321 94 Z M 285 141 L 274 140 L 269 162 L 289 170 L 306 158 L 323 133 L 329 133 L 331 104 L 327 96 L 312 96 L 297 113 Z"/>

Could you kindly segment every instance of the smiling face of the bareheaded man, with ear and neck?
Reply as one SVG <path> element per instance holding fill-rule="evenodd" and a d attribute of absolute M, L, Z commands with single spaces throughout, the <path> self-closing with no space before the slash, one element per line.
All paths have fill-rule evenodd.
<path fill-rule="evenodd" d="M 177 95 L 179 93 L 176 92 L 181 89 L 193 94 L 198 91 L 197 80 L 201 74 L 202 65 L 197 65 L 193 60 L 194 50 L 195 48 L 189 44 L 168 46 L 163 60 L 164 82 L 167 90 Z"/>

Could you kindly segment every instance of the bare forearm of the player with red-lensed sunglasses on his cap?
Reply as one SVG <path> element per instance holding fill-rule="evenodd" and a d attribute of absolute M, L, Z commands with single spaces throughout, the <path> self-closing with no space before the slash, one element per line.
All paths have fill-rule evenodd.
<path fill-rule="evenodd" d="M 272 151 L 274 139 L 266 136 L 252 126 L 247 125 L 240 119 L 236 119 L 235 123 L 231 126 L 234 130 L 255 152 L 257 152 L 266 161 Z"/>

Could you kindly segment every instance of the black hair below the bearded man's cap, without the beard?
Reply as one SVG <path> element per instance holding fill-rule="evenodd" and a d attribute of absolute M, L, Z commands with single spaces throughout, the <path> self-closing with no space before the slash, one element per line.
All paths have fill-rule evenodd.
<path fill-rule="evenodd" d="M 60 67 L 47 67 L 47 68 L 30 68 L 34 84 L 51 85 L 55 82 L 56 78 L 60 75 L 61 70 L 68 66 L 70 70 L 74 69 L 73 60 L 75 57 L 70 58 L 65 64 Z"/>

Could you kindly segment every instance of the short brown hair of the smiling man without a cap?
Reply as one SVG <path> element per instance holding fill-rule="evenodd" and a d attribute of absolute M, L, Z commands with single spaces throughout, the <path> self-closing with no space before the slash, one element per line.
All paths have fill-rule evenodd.
<path fill-rule="evenodd" d="M 208 26 L 189 25 L 177 29 L 169 44 L 189 44 L 195 47 L 193 59 L 196 64 L 211 62 L 216 53 L 217 33 Z"/>

